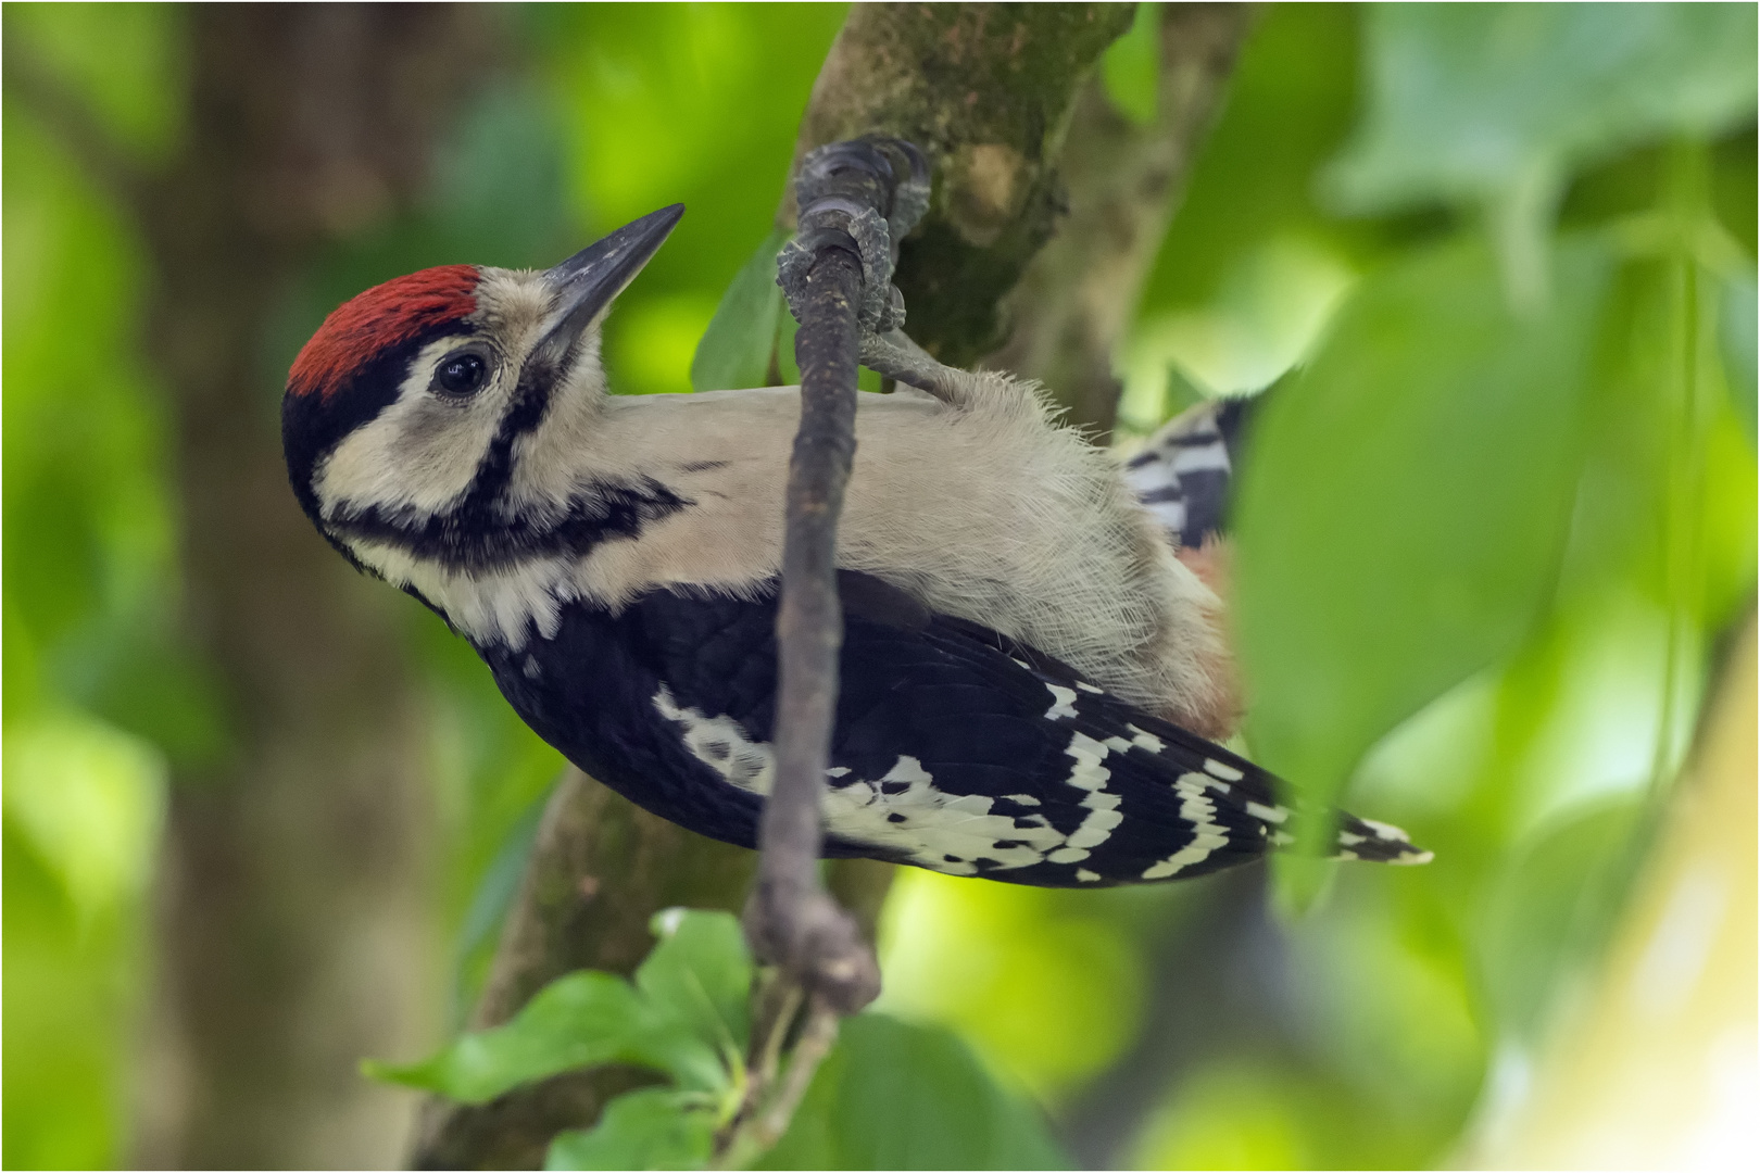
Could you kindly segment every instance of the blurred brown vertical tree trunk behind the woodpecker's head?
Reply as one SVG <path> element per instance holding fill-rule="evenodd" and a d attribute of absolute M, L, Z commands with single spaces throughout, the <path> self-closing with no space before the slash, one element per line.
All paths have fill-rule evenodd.
<path fill-rule="evenodd" d="M 315 250 L 407 206 L 493 42 L 451 5 L 197 5 L 180 155 L 134 186 L 146 350 L 172 396 L 185 617 L 232 753 L 174 779 L 160 1008 L 134 1159 L 398 1161 L 405 1097 L 363 1053 L 428 1036 L 426 739 L 398 603 L 299 514 L 266 324 Z"/>

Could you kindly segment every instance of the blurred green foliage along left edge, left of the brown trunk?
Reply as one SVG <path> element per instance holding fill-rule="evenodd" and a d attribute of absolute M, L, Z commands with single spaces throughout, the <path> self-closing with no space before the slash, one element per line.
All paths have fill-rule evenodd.
<path fill-rule="evenodd" d="M 143 158 L 176 134 L 165 11 L 9 11 Z M 16 104 L 5 171 L 5 1159 L 113 1164 L 146 1001 L 165 758 L 218 753 L 171 633 L 164 413 L 136 352 L 143 250 Z"/>

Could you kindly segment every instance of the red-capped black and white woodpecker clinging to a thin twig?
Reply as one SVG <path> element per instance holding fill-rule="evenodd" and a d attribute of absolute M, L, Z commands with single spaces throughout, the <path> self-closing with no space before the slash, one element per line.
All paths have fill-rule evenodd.
<path fill-rule="evenodd" d="M 283 443 L 317 529 L 470 640 L 544 740 L 752 848 L 799 389 L 607 394 L 604 317 L 681 215 L 553 269 L 445 266 L 354 297 L 294 361 Z M 1202 445 L 1130 470 L 1162 477 L 1146 506 L 1038 387 L 868 343 L 905 382 L 859 394 L 825 855 L 1079 888 L 1288 842 L 1281 783 L 1216 744 L 1237 719 L 1221 603 L 1151 512 Z M 1176 457 L 1156 473 L 1155 452 Z M 1336 825 L 1339 856 L 1429 858 Z"/>

